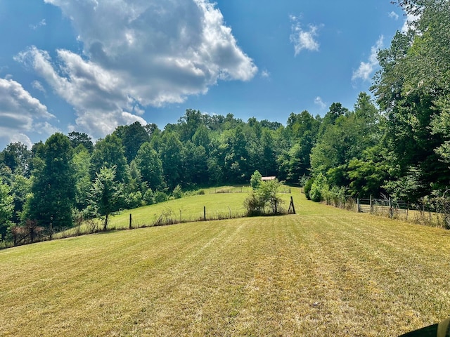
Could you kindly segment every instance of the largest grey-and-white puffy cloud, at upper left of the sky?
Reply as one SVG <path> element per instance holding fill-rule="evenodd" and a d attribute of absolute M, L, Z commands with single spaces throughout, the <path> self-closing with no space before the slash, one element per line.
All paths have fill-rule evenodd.
<path fill-rule="evenodd" d="M 44 0 L 72 20 L 83 55 L 30 47 L 31 65 L 94 137 L 145 121 L 141 107 L 182 103 L 219 80 L 248 81 L 257 67 L 207 0 Z"/>

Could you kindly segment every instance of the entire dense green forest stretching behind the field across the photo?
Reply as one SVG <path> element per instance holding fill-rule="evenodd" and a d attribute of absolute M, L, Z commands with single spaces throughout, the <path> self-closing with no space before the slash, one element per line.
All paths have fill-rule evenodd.
<path fill-rule="evenodd" d="M 256 170 L 305 187 L 321 201 L 388 195 L 446 199 L 450 182 L 450 6 L 399 1 L 418 15 L 378 53 L 371 92 L 323 116 L 292 113 L 283 125 L 186 110 L 176 124 L 119 126 L 94 143 L 55 133 L 31 149 L 0 152 L 0 233 L 50 233 L 79 216 L 179 197 L 182 190 L 248 184 Z M 448 203 L 447 203 L 448 204 Z"/>

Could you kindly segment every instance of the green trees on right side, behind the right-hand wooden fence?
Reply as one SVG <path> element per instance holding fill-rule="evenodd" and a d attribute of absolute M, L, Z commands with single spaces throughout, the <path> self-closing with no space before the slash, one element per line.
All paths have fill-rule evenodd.
<path fill-rule="evenodd" d="M 378 53 L 371 86 L 378 110 L 360 95 L 353 112 L 330 116 L 319 132 L 311 199 L 383 193 L 435 210 L 449 204 L 449 1 L 392 2 L 417 19 Z"/>

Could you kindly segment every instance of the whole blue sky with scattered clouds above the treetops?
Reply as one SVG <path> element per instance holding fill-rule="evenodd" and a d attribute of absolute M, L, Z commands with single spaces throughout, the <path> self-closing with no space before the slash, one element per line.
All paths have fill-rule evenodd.
<path fill-rule="evenodd" d="M 0 148 L 192 108 L 352 109 L 406 17 L 389 0 L 0 0 Z"/>

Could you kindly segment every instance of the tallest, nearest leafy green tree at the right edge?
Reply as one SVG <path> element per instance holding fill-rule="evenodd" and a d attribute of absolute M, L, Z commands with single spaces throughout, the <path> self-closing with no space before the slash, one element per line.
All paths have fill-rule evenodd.
<path fill-rule="evenodd" d="M 372 89 L 387 115 L 386 145 L 392 153 L 388 164 L 394 168 L 387 187 L 420 199 L 432 190 L 446 190 L 450 183 L 445 163 L 450 6 L 445 0 L 397 3 L 418 19 L 413 29 L 398 32 L 390 48 L 380 51 L 381 69 Z M 403 184 L 408 187 L 401 192 Z"/>

